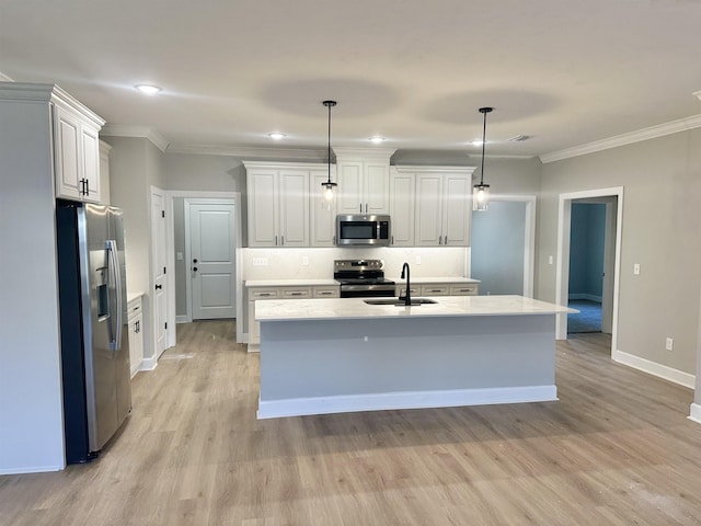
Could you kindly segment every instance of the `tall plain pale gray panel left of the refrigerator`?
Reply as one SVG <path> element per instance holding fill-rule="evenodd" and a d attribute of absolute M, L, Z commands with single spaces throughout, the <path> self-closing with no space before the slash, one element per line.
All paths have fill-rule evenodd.
<path fill-rule="evenodd" d="M 50 122 L 0 102 L 0 474 L 64 466 Z"/>

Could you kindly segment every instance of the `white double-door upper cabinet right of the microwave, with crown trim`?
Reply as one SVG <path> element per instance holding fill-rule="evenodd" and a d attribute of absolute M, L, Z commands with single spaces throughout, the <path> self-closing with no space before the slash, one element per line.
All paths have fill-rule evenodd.
<path fill-rule="evenodd" d="M 468 247 L 472 167 L 397 167 L 415 178 L 414 245 Z M 395 220 L 392 218 L 392 227 Z"/>

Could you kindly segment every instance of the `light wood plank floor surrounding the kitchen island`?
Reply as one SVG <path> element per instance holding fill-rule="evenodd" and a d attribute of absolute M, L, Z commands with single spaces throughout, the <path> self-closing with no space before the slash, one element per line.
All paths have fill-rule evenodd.
<path fill-rule="evenodd" d="M 556 402 L 265 421 L 233 323 L 177 338 L 99 460 L 0 477 L 1 525 L 701 524 L 692 391 L 606 335 L 558 343 Z"/>

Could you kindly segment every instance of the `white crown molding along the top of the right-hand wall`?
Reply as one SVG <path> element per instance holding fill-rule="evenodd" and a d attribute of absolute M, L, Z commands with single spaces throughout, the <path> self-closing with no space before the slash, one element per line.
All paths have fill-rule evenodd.
<path fill-rule="evenodd" d="M 679 132 L 687 132 L 689 129 L 701 127 L 701 115 L 693 115 L 691 117 L 679 118 L 671 121 L 670 123 L 660 124 L 657 126 L 651 126 L 650 128 L 639 129 L 636 132 L 630 132 L 628 134 L 621 134 L 608 139 L 596 140 L 587 145 L 575 146 L 574 148 L 566 148 L 564 150 L 553 151 L 551 153 L 544 153 L 540 156 L 540 161 L 543 164 L 554 161 L 562 161 L 563 159 L 570 159 L 572 157 L 585 156 L 587 153 L 594 153 L 596 151 L 608 150 L 610 148 L 618 148 L 620 146 L 632 145 L 634 142 L 641 142 L 643 140 L 655 139 L 657 137 L 664 137 L 666 135 L 677 134 Z"/>

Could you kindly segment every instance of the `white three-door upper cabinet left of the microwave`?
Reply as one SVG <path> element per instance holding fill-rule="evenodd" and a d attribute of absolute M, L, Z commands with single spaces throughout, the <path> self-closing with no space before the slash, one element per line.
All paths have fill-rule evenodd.
<path fill-rule="evenodd" d="M 244 161 L 249 206 L 249 247 L 333 244 L 335 211 L 315 209 L 326 167 Z M 314 188 L 310 188 L 310 184 Z M 319 186 L 318 188 L 315 186 Z M 314 210 L 311 207 L 314 206 Z M 311 232 L 311 236 L 310 236 Z"/>

